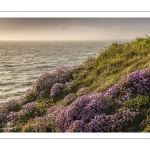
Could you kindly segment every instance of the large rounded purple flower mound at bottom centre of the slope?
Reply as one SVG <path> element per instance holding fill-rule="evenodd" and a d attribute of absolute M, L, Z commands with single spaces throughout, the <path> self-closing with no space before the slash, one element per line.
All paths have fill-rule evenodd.
<path fill-rule="evenodd" d="M 96 96 L 94 97 L 96 98 Z M 100 99 L 99 97 L 97 97 Z M 88 123 L 95 115 L 103 114 L 106 103 L 103 99 L 92 99 L 89 95 L 77 98 L 56 117 L 57 131 L 64 132 L 76 120 Z"/>

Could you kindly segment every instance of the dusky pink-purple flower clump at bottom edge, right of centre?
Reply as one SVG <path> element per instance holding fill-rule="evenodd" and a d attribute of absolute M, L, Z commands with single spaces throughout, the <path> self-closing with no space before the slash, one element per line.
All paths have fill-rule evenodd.
<path fill-rule="evenodd" d="M 85 132 L 124 132 L 137 122 L 139 112 L 130 109 L 119 109 L 113 115 L 96 115 L 85 125 Z M 142 120 L 139 120 L 139 122 Z M 137 126 L 137 125 L 136 125 Z"/>

